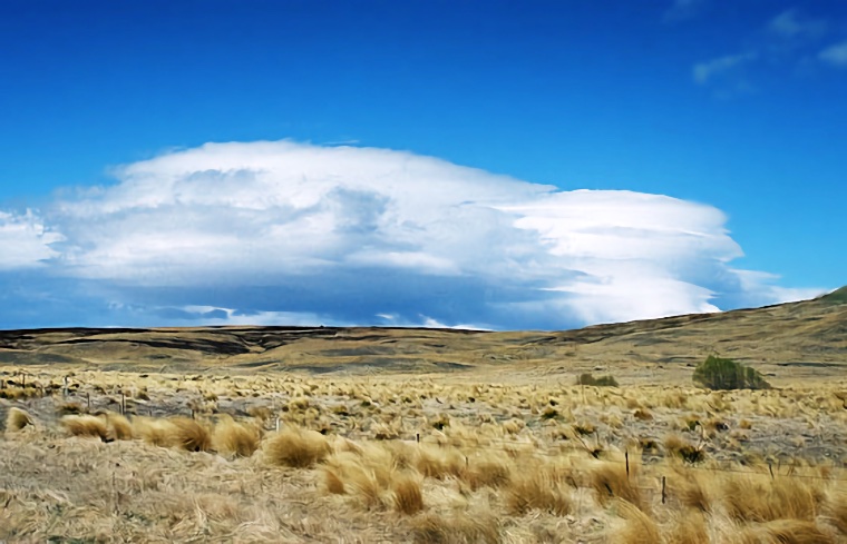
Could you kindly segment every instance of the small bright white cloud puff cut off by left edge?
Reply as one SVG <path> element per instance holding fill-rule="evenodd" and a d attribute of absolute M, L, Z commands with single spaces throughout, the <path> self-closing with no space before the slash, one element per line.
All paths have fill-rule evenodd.
<path fill-rule="evenodd" d="M 50 244 L 61 240 L 31 210 L 23 215 L 0 211 L 0 270 L 43 266 L 46 259 L 58 256 Z"/>

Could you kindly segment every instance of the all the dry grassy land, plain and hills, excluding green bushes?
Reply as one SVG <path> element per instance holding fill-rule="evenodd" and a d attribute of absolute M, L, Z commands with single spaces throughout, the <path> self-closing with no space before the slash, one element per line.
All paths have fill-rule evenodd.
<path fill-rule="evenodd" d="M 0 541 L 845 543 L 845 308 L 0 333 Z"/>

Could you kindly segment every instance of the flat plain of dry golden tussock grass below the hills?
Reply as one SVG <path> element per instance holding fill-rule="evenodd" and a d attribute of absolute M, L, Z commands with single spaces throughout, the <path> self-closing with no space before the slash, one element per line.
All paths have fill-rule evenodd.
<path fill-rule="evenodd" d="M 847 377 L 20 372 L 0 541 L 847 542 Z"/>

